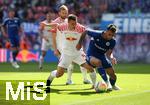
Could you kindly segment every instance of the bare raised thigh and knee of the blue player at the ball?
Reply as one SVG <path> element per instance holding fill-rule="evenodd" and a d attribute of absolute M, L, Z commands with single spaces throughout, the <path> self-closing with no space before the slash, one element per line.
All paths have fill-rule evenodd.
<path fill-rule="evenodd" d="M 91 65 L 93 67 L 101 67 L 102 66 L 101 60 L 94 56 L 87 56 L 86 61 L 89 65 Z"/>

